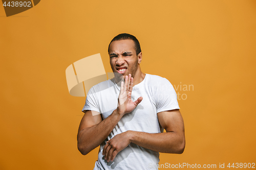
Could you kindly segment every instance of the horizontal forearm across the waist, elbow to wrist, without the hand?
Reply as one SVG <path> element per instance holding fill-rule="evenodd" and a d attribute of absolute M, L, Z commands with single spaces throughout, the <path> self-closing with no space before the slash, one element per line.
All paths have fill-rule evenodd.
<path fill-rule="evenodd" d="M 129 131 L 131 142 L 156 152 L 182 154 L 185 148 L 184 133 L 145 133 Z"/>

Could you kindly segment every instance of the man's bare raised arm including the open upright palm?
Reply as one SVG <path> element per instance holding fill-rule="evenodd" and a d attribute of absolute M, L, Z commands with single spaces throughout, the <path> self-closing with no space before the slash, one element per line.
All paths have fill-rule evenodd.
<path fill-rule="evenodd" d="M 121 83 L 117 109 L 104 120 L 102 120 L 99 112 L 86 111 L 82 117 L 77 134 L 77 147 L 81 154 L 86 155 L 98 147 L 109 136 L 121 117 L 126 113 L 132 112 L 142 101 L 142 97 L 135 102 L 132 101 L 132 89 L 133 78 L 129 75 L 129 77 L 125 77 L 125 82 Z M 94 115 L 92 112 L 95 112 Z"/>

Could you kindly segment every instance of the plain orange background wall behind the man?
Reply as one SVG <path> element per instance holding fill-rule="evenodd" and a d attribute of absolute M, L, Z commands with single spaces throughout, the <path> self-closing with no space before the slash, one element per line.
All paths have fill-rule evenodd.
<path fill-rule="evenodd" d="M 160 164 L 256 162 L 256 1 L 44 0 L 11 17 L 0 7 L 0 29 L 0 169 L 93 169 L 98 148 L 77 150 L 85 98 L 65 70 L 100 53 L 111 72 L 119 33 L 139 39 L 144 73 L 194 85 L 177 90 L 185 151 Z"/>

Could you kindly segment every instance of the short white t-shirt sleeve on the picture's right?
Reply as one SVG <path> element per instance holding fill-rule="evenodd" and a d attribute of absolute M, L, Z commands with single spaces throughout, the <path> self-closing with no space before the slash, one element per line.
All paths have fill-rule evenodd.
<path fill-rule="evenodd" d="M 177 94 L 173 85 L 165 78 L 158 82 L 156 93 L 155 93 L 155 102 L 157 106 L 157 113 L 162 111 L 180 109 Z"/>

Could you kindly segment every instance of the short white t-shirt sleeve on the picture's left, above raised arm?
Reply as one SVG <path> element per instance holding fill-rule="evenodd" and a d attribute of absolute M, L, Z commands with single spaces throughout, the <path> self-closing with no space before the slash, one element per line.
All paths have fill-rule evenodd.
<path fill-rule="evenodd" d="M 97 100 L 97 94 L 95 93 L 94 88 L 92 87 L 86 96 L 86 104 L 84 104 L 82 108 L 82 112 L 86 112 L 86 110 L 92 110 L 100 112 L 98 100 Z"/>

